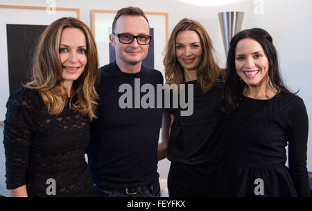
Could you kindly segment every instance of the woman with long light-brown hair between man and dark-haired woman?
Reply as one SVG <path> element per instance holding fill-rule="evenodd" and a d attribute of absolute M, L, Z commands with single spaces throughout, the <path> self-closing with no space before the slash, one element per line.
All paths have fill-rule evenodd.
<path fill-rule="evenodd" d="M 171 161 L 169 196 L 215 196 L 223 155 L 223 79 L 202 24 L 184 18 L 173 28 L 164 66 L 168 85 L 193 87 L 193 114 L 181 115 L 182 108 L 164 111 L 158 158 Z"/>

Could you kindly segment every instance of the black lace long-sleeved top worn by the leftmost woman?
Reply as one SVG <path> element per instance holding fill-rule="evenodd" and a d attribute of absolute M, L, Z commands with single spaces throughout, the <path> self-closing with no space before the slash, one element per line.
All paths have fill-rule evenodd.
<path fill-rule="evenodd" d="M 28 88 L 12 93 L 6 107 L 7 189 L 26 185 L 28 196 L 95 196 L 85 162 L 89 118 L 68 105 L 51 116 L 39 92 Z"/>

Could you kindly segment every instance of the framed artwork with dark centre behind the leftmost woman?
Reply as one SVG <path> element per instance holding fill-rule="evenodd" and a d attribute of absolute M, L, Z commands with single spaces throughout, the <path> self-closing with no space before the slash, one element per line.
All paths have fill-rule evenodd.
<path fill-rule="evenodd" d="M 29 81 L 33 51 L 42 31 L 61 17 L 80 19 L 78 8 L 50 9 L 0 5 L 0 124 L 10 93 Z"/>

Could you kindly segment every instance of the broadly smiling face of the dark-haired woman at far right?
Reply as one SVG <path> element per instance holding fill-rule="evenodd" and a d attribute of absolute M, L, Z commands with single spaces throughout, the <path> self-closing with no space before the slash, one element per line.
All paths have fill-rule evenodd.
<path fill-rule="evenodd" d="M 268 84 L 268 58 L 256 40 L 239 40 L 235 49 L 235 67 L 237 74 L 247 85 L 265 88 Z"/>

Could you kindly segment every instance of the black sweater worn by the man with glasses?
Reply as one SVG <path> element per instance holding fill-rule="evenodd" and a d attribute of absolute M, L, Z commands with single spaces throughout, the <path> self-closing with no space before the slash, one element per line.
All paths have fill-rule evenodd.
<path fill-rule="evenodd" d="M 119 98 L 125 94 L 119 92 L 120 85 L 128 84 L 137 92 L 135 78 L 141 86 L 151 84 L 155 90 L 163 83 L 160 71 L 144 66 L 136 74 L 122 72 L 116 62 L 101 67 L 99 118 L 92 121 L 92 142 L 87 150 L 94 183 L 101 187 L 136 187 L 159 178 L 157 144 L 162 108 L 134 108 L 134 94 L 132 108 L 119 106 Z M 145 94 L 140 93 L 139 99 Z"/>

